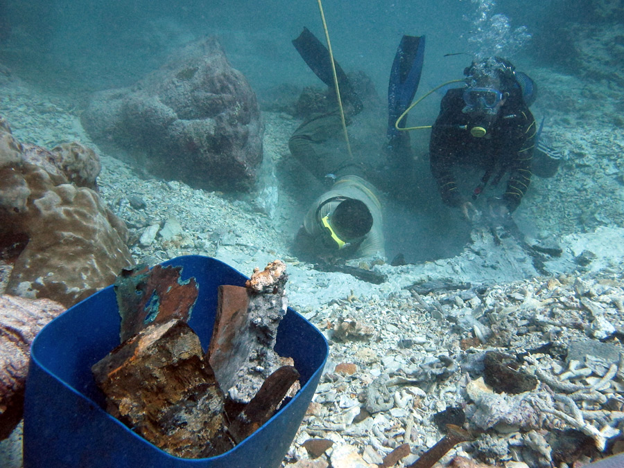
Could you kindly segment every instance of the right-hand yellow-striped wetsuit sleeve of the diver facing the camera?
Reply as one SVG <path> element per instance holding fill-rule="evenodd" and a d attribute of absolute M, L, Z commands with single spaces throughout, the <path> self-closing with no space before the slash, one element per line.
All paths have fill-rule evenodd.
<path fill-rule="evenodd" d="M 510 155 L 508 162 L 510 177 L 503 194 L 503 201 L 510 212 L 518 208 L 531 183 L 531 164 L 537 135 L 535 118 L 531 112 L 525 109 L 521 114 L 523 120 L 517 127 L 517 145 L 515 145 L 518 150 Z"/>

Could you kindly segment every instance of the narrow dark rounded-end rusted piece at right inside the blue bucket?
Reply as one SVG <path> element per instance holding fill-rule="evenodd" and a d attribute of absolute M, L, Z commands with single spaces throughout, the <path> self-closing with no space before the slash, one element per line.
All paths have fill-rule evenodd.
<path fill-rule="evenodd" d="M 262 384 L 256 396 L 229 425 L 229 433 L 236 443 L 257 431 L 275 413 L 288 390 L 299 379 L 293 366 L 284 366 L 273 372 Z"/>

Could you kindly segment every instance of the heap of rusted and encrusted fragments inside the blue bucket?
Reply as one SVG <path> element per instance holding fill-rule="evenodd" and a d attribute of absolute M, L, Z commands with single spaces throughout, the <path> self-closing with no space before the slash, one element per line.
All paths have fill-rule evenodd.
<path fill-rule="evenodd" d="M 198 297 L 194 278 L 181 282 L 180 267 L 123 271 L 116 293 L 125 341 L 92 368 L 107 410 L 183 458 L 224 453 L 268 421 L 298 390 L 299 372 L 273 350 L 287 307 L 285 265 L 276 260 L 265 271 L 248 281 L 257 289 L 220 287 L 207 354 L 186 323 Z M 232 389 L 246 399 L 229 402 L 223 390 Z"/>

